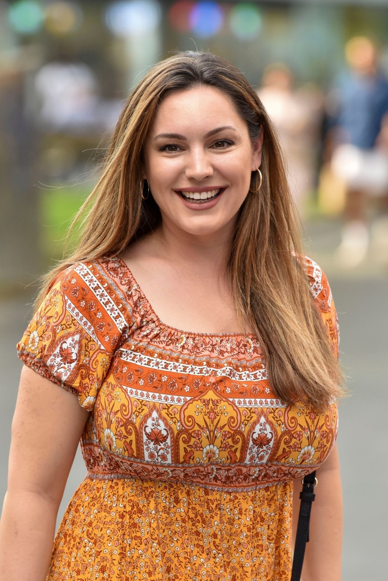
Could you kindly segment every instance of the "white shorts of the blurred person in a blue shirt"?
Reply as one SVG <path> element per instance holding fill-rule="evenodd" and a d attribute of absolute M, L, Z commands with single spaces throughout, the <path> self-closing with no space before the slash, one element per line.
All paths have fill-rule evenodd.
<path fill-rule="evenodd" d="M 365 190 L 371 196 L 388 194 L 388 151 L 343 144 L 334 150 L 331 164 L 347 187 Z"/>

